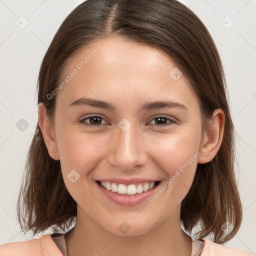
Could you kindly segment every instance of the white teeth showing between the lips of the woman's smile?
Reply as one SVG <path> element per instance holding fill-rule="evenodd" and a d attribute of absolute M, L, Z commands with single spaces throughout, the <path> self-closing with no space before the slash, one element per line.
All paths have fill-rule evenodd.
<path fill-rule="evenodd" d="M 143 193 L 152 189 L 153 187 L 158 185 L 160 181 L 141 182 L 138 184 L 129 184 L 129 185 L 116 183 L 116 182 L 105 182 L 100 180 L 96 180 L 96 182 L 106 190 L 112 191 L 117 194 L 132 196 L 132 195 Z"/>

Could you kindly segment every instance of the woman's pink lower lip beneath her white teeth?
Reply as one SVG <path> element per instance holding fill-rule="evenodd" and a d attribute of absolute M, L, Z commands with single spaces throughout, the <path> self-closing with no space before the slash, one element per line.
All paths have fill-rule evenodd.
<path fill-rule="evenodd" d="M 150 190 L 135 195 L 118 194 L 112 192 L 111 190 L 105 189 L 97 182 L 96 184 L 99 187 L 99 189 L 104 193 L 104 195 L 111 201 L 120 205 L 133 206 L 145 201 L 149 196 L 151 196 L 155 192 L 156 188 L 159 186 L 160 182 Z"/>

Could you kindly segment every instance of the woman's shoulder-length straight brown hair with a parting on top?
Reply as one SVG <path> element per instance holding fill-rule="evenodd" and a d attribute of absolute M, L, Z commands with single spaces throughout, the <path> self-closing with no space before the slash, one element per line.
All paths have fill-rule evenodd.
<path fill-rule="evenodd" d="M 62 22 L 42 60 L 38 76 L 38 104 L 43 102 L 49 117 L 54 115 L 58 85 L 68 59 L 94 39 L 111 35 L 157 47 L 168 54 L 190 81 L 202 120 L 214 109 L 225 114 L 223 140 L 215 157 L 197 164 L 190 190 L 181 203 L 180 218 L 196 237 L 212 235 L 226 242 L 238 231 L 242 209 L 234 176 L 234 130 L 226 98 L 225 77 L 215 44 L 200 19 L 176 0 L 86 0 Z M 17 201 L 22 230 L 36 234 L 51 228 L 65 231 L 76 216 L 76 202 L 63 182 L 60 161 L 53 160 L 36 126 L 29 148 Z M 224 233 L 221 225 L 234 226 Z"/>

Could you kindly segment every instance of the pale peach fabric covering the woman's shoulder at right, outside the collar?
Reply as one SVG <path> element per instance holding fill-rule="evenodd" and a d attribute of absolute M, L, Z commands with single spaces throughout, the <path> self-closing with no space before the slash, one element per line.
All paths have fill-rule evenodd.
<path fill-rule="evenodd" d="M 204 242 L 200 256 L 254 256 L 249 252 L 226 247 L 207 239 L 202 239 Z"/>

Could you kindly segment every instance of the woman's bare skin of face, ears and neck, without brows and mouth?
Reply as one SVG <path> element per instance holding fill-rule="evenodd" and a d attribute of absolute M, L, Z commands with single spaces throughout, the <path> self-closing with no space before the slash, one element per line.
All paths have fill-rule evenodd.
<path fill-rule="evenodd" d="M 191 239 L 180 227 L 181 201 L 191 186 L 196 165 L 210 161 L 223 136 L 224 114 L 215 109 L 202 130 L 201 113 L 189 81 L 174 80 L 175 63 L 157 48 L 119 36 L 97 39 L 71 58 L 63 73 L 95 48 L 99 52 L 55 96 L 54 123 L 45 116 L 42 103 L 38 122 L 48 152 L 60 159 L 65 185 L 77 202 L 75 226 L 65 235 L 68 255 L 190 255 Z M 100 99 L 116 110 L 75 105 L 80 97 Z M 148 101 L 173 100 L 180 107 L 141 110 Z M 54 100 L 54 99 L 52 99 Z M 88 115 L 100 116 L 97 127 Z M 167 119 L 157 122 L 156 116 Z M 118 123 L 126 118 L 126 131 Z M 169 119 L 176 123 L 169 122 Z M 169 124 L 159 127 L 156 124 Z M 95 121 L 94 121 L 95 123 Z M 101 194 L 95 180 L 140 177 L 161 180 L 161 187 L 189 157 L 200 156 L 157 198 L 135 206 L 121 206 Z M 67 174 L 79 174 L 72 183 Z M 118 226 L 126 221 L 124 234 Z"/>

